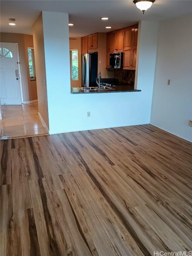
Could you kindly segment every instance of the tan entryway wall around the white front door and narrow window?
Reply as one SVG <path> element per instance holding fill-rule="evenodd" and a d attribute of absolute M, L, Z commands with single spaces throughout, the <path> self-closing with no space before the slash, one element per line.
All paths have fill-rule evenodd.
<path fill-rule="evenodd" d="M 29 64 L 27 47 L 33 47 L 33 36 L 17 33 L 1 33 L 1 42 L 18 43 L 19 58 L 21 67 L 21 80 L 23 88 L 23 100 L 31 101 L 37 100 L 37 85 L 36 81 L 31 82 L 29 76 Z"/>

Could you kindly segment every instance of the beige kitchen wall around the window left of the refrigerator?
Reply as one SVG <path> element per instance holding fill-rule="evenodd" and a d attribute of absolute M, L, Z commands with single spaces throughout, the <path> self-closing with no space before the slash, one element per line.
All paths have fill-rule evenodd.
<path fill-rule="evenodd" d="M 79 80 L 71 80 L 71 87 L 79 87 L 81 86 L 81 38 L 73 37 L 69 39 L 69 48 L 78 50 L 78 74 Z"/>

